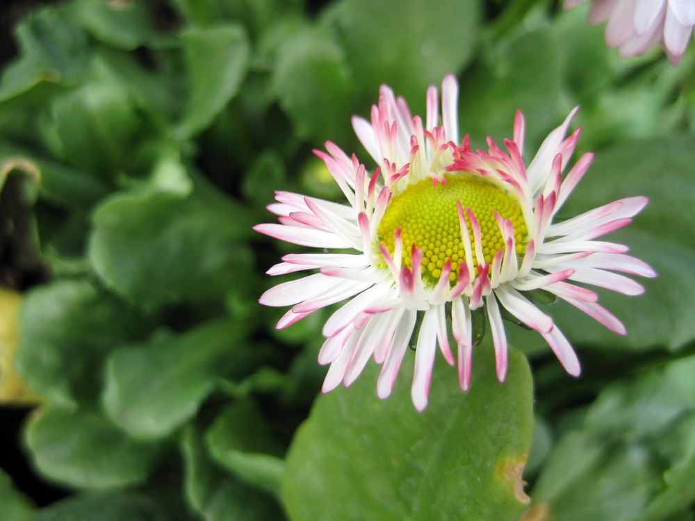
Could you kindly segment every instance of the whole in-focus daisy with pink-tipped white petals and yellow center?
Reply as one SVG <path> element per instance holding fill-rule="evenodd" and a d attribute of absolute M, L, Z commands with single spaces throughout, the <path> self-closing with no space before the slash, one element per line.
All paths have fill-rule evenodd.
<path fill-rule="evenodd" d="M 563 179 L 579 136 L 577 130 L 565 139 L 577 109 L 548 135 L 527 167 L 521 112 L 514 140 L 505 140 L 506 152 L 490 138 L 488 151 L 473 151 L 467 135 L 457 144 L 454 76 L 444 78 L 441 98 L 440 116 L 439 93 L 434 86 L 427 90 L 423 122 L 382 86 L 371 121 L 352 119 L 379 167 L 368 171 L 357 156 L 347 156 L 332 142 L 326 152 L 315 151 L 347 204 L 277 192 L 277 203 L 268 209 L 279 224 L 255 226 L 321 250 L 286 255 L 268 271 L 318 270 L 263 293 L 261 304 L 291 306 L 278 328 L 347 299 L 323 326 L 326 340 L 318 361 L 330 364 L 324 392 L 341 382 L 350 385 L 373 358 L 382 365 L 377 394 L 387 397 L 409 346 L 415 349 L 411 396 L 418 410 L 427 406 L 437 347 L 445 361 L 457 363 L 461 388 L 467 390 L 476 313 L 487 317 L 503 381 L 502 308 L 538 331 L 567 372 L 578 375 L 568 340 L 528 292 L 546 290 L 624 334 L 623 324 L 597 303 L 596 292 L 578 283 L 639 295 L 643 288 L 616 272 L 655 276 L 648 265 L 626 255 L 627 247 L 594 240 L 628 224 L 644 208 L 645 197 L 553 222 L 593 158 L 584 154 Z"/>

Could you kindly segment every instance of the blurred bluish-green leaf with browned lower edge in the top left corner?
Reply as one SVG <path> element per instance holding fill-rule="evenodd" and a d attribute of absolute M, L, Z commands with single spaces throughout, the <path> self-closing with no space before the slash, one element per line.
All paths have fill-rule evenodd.
<path fill-rule="evenodd" d="M 0 81 L 0 102 L 24 94 L 38 84 L 75 85 L 89 70 L 87 38 L 63 10 L 44 8 L 17 25 L 19 58 Z"/>

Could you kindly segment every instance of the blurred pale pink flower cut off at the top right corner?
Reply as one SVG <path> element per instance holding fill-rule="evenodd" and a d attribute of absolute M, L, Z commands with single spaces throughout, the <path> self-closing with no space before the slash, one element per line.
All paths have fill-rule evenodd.
<path fill-rule="evenodd" d="M 569 9 L 587 0 L 566 0 Z M 589 23 L 608 21 L 609 47 L 621 56 L 638 56 L 661 44 L 673 65 L 678 65 L 695 25 L 695 0 L 594 0 Z"/>

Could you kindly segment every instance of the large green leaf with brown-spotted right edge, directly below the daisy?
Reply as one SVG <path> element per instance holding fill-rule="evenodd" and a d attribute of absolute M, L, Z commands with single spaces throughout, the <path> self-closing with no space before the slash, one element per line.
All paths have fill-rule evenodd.
<path fill-rule="evenodd" d="M 516 520 L 533 431 L 525 358 L 510 352 L 505 383 L 492 349 L 475 349 L 471 390 L 434 367 L 430 404 L 410 398 L 412 355 L 380 401 L 375 367 L 351 388 L 320 396 L 295 435 L 282 494 L 294 521 Z"/>

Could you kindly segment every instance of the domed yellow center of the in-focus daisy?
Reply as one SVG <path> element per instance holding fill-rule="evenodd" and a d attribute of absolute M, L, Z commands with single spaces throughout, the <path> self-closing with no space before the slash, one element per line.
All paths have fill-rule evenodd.
<path fill-rule="evenodd" d="M 528 242 L 528 230 L 521 206 L 512 195 L 472 174 L 445 174 L 444 179 L 446 184 L 438 183 L 436 186 L 431 179 L 425 179 L 409 186 L 391 200 L 378 229 L 380 241 L 391 254 L 395 251 L 395 231 L 400 228 L 402 262 L 408 267 L 412 266 L 411 246 L 415 244 L 423 250 L 422 272 L 426 282 L 436 283 L 445 261 L 450 259 L 449 279 L 455 283 L 459 265 L 466 262 L 457 200 L 461 202 L 464 213 L 466 207 L 471 208 L 480 223 L 484 259 L 475 258 L 473 227 L 468 223 L 474 265 L 491 263 L 497 251 L 505 249 L 493 210 L 514 224 L 516 254 L 523 254 Z"/>

